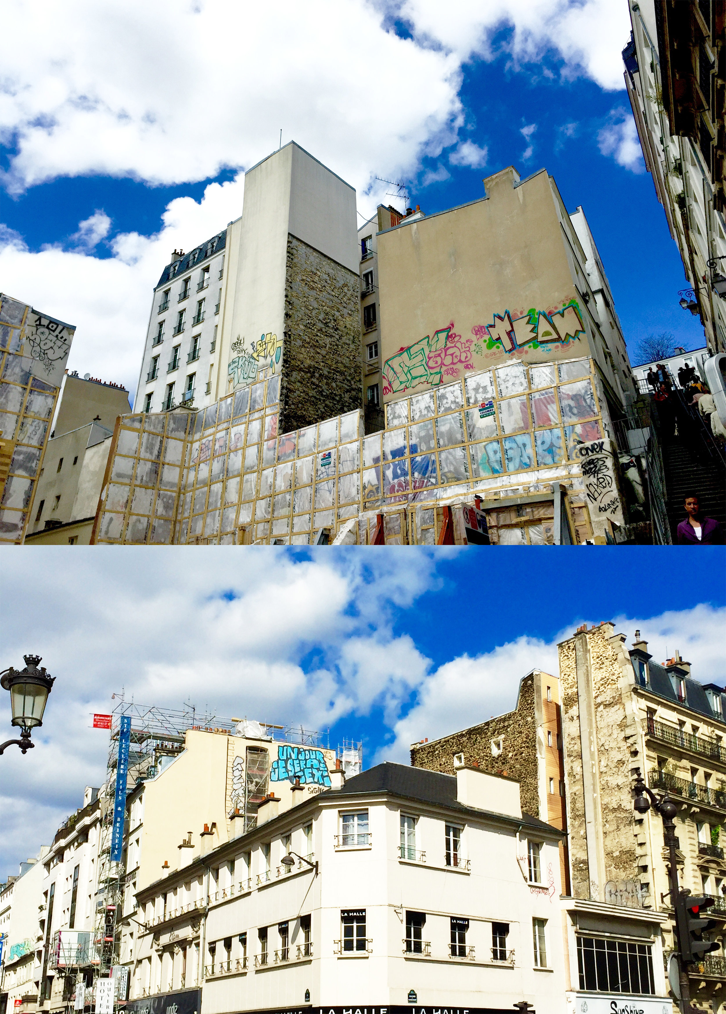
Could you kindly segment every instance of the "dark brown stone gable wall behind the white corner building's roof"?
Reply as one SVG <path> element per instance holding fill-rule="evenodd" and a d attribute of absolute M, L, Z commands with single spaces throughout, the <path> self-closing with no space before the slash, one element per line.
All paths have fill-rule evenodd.
<path fill-rule="evenodd" d="M 492 740 L 499 736 L 504 737 L 502 752 L 492 756 Z M 463 753 L 467 765 L 476 760 L 482 771 L 515 778 L 519 782 L 522 810 L 547 820 L 547 814 L 540 813 L 534 673 L 525 676 L 519 683 L 514 711 L 431 743 L 412 746 L 411 765 L 453 775 L 455 753 Z"/>

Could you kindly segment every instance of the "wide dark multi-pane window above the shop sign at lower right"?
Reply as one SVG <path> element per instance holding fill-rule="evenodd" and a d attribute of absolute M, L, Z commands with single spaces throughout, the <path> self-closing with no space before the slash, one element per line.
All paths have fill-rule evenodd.
<path fill-rule="evenodd" d="M 650 944 L 578 937 L 577 965 L 581 990 L 655 993 Z"/>

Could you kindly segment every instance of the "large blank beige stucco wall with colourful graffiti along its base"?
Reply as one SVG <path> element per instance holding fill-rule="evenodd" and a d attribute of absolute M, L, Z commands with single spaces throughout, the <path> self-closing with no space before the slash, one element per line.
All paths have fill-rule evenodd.
<path fill-rule="evenodd" d="M 516 171 L 509 167 L 485 180 L 485 199 L 404 222 L 379 235 L 384 364 L 426 336 L 430 339 L 422 355 L 414 356 L 420 369 L 411 364 L 408 384 L 405 367 L 384 365 L 385 401 L 514 356 L 543 362 L 593 351 L 584 333 L 591 330 L 591 322 L 577 288 L 585 284 L 585 258 L 554 182 L 544 169 L 514 186 L 517 182 Z M 527 320 L 513 324 L 520 347 L 508 352 L 483 331 L 494 323 L 495 313 L 508 310 L 514 321 L 532 309 L 556 312 L 571 300 L 578 303 L 582 328 L 576 327 L 573 313 L 555 317 L 563 338 L 568 330 L 580 332 L 566 342 L 557 340 L 552 320 L 537 314 L 529 327 Z M 507 322 L 504 330 L 509 328 Z M 434 338 L 447 329 L 446 340 Z M 533 336 L 538 339 L 534 345 L 522 345 Z"/>

